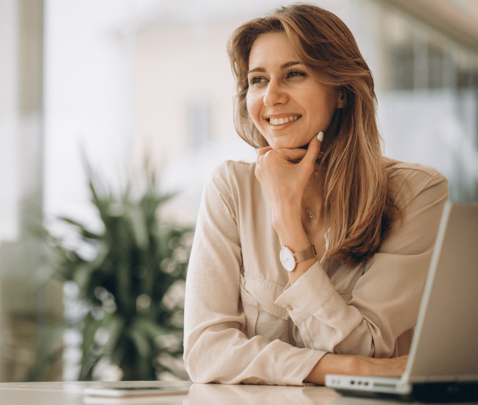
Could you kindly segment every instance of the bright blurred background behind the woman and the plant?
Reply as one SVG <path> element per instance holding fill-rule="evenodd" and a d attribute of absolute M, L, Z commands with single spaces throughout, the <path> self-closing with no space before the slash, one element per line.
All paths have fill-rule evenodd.
<path fill-rule="evenodd" d="M 476 201 L 478 2 L 311 2 L 348 25 L 373 71 L 386 155 L 438 169 L 451 199 Z M 55 359 L 44 352 L 55 321 L 91 308 L 75 298 L 75 283 L 40 282 L 47 258 L 32 229 L 43 223 L 94 259 L 98 252 L 57 220 L 102 232 L 86 162 L 113 195 L 128 181 L 141 186 L 145 170 L 156 173 L 160 191 L 176 193 L 158 215 L 193 227 L 211 170 L 255 159 L 232 124 L 226 41 L 242 22 L 287 3 L 0 0 L 0 381 L 80 378 L 81 322 L 63 330 Z M 98 320 L 111 297 L 95 291 Z M 176 285 L 169 300 L 180 307 L 182 293 Z M 150 302 L 143 294 L 137 308 Z M 101 331 L 98 345 L 109 336 Z M 103 354 L 89 377 L 122 378 Z M 178 358 L 158 357 L 155 376 L 184 376 Z M 32 373 L 42 365 L 47 371 Z"/>

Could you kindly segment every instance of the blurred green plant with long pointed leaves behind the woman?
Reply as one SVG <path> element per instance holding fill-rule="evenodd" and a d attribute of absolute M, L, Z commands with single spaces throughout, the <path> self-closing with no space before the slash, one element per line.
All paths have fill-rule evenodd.
<path fill-rule="evenodd" d="M 192 229 L 160 220 L 170 195 L 158 193 L 154 176 L 142 179 L 137 196 L 131 182 L 114 195 L 91 171 L 88 177 L 103 230 L 60 218 L 68 236 L 46 233 L 51 275 L 64 282 L 63 330 L 80 337 L 77 377 L 104 379 L 102 369 L 112 367 L 113 379 L 185 379 L 184 281 Z"/>

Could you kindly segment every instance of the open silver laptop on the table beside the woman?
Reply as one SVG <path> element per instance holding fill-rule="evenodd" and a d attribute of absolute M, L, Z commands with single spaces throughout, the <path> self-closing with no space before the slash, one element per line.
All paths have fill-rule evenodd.
<path fill-rule="evenodd" d="M 443 209 L 405 373 L 326 375 L 325 385 L 384 399 L 478 400 L 478 204 Z"/>

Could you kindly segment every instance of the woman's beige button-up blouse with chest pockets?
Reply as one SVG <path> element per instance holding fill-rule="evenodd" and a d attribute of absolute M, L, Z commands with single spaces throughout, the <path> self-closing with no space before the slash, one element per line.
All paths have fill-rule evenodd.
<path fill-rule="evenodd" d="M 254 170 L 225 162 L 204 188 L 186 281 L 191 379 L 302 385 L 326 352 L 407 354 L 448 199 L 445 177 L 389 161 L 403 224 L 367 263 L 347 267 L 325 253 L 290 286 Z"/>

